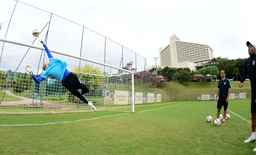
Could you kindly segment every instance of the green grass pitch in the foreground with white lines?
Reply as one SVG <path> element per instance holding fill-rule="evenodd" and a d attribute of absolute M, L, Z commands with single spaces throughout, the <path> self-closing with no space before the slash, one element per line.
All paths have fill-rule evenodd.
<path fill-rule="evenodd" d="M 215 127 L 215 101 L 136 105 L 135 113 L 0 115 L 0 154 L 253 154 L 250 100 L 230 100 Z M 223 114 L 223 109 L 221 110 Z"/>

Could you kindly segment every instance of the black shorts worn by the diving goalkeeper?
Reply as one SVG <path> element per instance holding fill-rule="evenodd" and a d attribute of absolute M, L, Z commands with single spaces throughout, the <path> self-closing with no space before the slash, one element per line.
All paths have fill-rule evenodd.
<path fill-rule="evenodd" d="M 83 82 L 72 72 L 61 83 L 72 94 L 76 94 L 78 89 L 84 86 Z"/>

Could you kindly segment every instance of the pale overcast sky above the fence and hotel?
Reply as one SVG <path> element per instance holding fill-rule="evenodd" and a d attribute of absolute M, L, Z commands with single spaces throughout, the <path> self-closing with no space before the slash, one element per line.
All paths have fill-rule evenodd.
<path fill-rule="evenodd" d="M 255 0 L 19 1 L 98 32 L 146 58 L 148 67 L 155 65 L 154 57 L 160 65 L 159 48 L 170 44 L 174 33 L 181 41 L 209 45 L 214 57 L 229 59 L 247 58 L 246 41 L 256 43 Z M 13 7 L 0 5 L 4 9 Z"/>

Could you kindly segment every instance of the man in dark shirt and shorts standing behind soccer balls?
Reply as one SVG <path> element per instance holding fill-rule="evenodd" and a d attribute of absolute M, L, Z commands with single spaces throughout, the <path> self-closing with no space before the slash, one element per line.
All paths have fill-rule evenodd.
<path fill-rule="evenodd" d="M 218 92 L 217 92 L 217 95 L 216 95 L 216 102 L 217 102 L 217 118 L 220 117 L 220 111 L 221 111 L 221 108 L 223 106 L 223 109 L 224 109 L 224 113 L 223 113 L 223 121 L 222 121 L 222 124 L 224 125 L 225 124 L 225 118 L 226 118 L 226 115 L 227 115 L 227 106 L 228 106 L 228 103 L 229 103 L 229 94 L 230 94 L 230 88 L 231 88 L 231 85 L 230 85 L 230 81 L 229 79 L 226 79 L 226 71 L 225 70 L 221 70 L 220 72 L 220 77 L 221 77 L 221 80 L 219 80 L 219 83 L 218 83 Z M 219 96 L 219 100 L 217 100 L 217 97 Z"/>

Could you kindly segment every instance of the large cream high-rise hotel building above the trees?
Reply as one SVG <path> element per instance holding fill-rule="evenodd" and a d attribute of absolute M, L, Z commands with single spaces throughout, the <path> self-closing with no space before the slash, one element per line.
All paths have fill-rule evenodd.
<path fill-rule="evenodd" d="M 173 35 L 170 44 L 159 49 L 159 55 L 160 66 L 196 70 L 196 66 L 213 59 L 213 50 L 208 45 L 180 41 Z"/>

